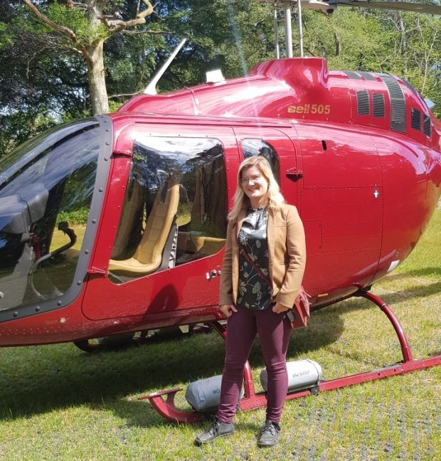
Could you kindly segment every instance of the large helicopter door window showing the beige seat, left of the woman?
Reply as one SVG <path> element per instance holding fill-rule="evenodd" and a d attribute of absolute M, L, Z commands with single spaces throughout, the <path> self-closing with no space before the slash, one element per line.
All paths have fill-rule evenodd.
<path fill-rule="evenodd" d="M 110 280 L 122 283 L 218 253 L 225 244 L 226 196 L 218 139 L 138 139 Z"/>

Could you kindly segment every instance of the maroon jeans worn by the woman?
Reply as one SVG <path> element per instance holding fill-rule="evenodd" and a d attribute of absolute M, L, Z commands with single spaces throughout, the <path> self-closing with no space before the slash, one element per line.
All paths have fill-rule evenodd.
<path fill-rule="evenodd" d="M 218 418 L 223 423 L 233 420 L 243 383 L 243 366 L 258 334 L 268 373 L 267 420 L 279 423 L 288 391 L 286 355 L 291 326 L 285 314 L 272 312 L 272 306 L 264 310 L 237 309 L 227 324 Z"/>

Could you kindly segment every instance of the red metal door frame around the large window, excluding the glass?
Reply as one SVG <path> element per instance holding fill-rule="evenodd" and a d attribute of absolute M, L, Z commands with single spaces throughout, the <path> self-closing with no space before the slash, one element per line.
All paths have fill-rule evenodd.
<path fill-rule="evenodd" d="M 184 124 L 166 125 L 150 123 L 132 124 L 122 131 L 117 139 L 117 152 L 127 153 L 132 149 L 134 139 L 149 136 L 170 136 L 179 133 L 180 137 L 211 137 L 221 141 L 225 149 L 225 161 L 228 181 L 228 199 L 231 201 L 235 191 L 235 171 L 239 156 L 233 130 L 228 127 L 191 127 Z M 107 274 L 107 265 L 112 253 L 113 241 L 119 223 L 119 212 L 124 198 L 125 185 L 129 167 L 127 157 L 115 159 L 115 182 L 110 185 L 107 206 L 104 210 L 102 232 L 98 236 L 100 251 L 96 253 L 93 267 Z M 125 162 L 125 163 L 124 163 Z M 119 164 L 121 164 L 119 168 Z M 226 219 L 226 216 L 225 216 Z M 198 309 L 217 304 L 218 277 L 207 279 L 206 274 L 221 269 L 222 253 L 201 258 L 179 265 L 170 270 L 163 270 L 151 275 L 139 277 L 130 282 L 116 285 L 106 275 L 90 277 L 83 302 L 83 312 L 89 319 L 111 319 L 127 316 L 142 316 L 143 323 L 148 322 L 149 315 L 166 312 L 175 316 L 176 311 Z M 102 294 L 106 296 L 103 297 Z M 124 302 L 122 302 L 124 300 Z M 212 310 L 212 309 L 211 309 Z M 174 314 L 171 314 L 174 312 Z M 174 317 L 163 320 L 176 323 Z"/>

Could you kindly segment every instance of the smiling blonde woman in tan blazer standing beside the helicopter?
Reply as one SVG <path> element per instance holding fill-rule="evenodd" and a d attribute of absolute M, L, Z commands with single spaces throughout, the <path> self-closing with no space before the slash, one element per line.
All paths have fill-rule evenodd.
<path fill-rule="evenodd" d="M 258 334 L 267 368 L 267 415 L 259 446 L 277 443 L 287 395 L 286 354 L 291 327 L 285 312 L 302 284 L 306 250 L 297 208 L 285 204 L 264 157 L 240 164 L 233 210 L 228 216 L 219 304 L 228 318 L 221 403 L 213 425 L 196 443 L 234 432 L 233 416 L 243 366 Z M 244 251 L 245 252 L 244 252 Z"/>

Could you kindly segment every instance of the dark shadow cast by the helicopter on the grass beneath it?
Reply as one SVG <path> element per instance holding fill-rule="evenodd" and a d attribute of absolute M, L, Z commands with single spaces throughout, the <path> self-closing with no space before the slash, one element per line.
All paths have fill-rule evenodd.
<path fill-rule="evenodd" d="M 434 290 L 441 291 L 441 282 L 384 298 L 393 307 L 397 299 L 423 297 Z M 293 332 L 288 359 L 334 343 L 344 329 L 341 315 L 359 309 L 377 307 L 367 300 L 352 299 L 314 312 L 308 327 Z M 137 396 L 221 374 L 223 356 L 223 340 L 214 332 L 99 354 L 86 354 L 73 344 L 3 349 L 0 420 L 87 406 L 109 408 L 130 425 L 163 425 L 166 421 L 147 401 L 137 401 Z M 263 366 L 257 341 L 250 363 Z"/>

